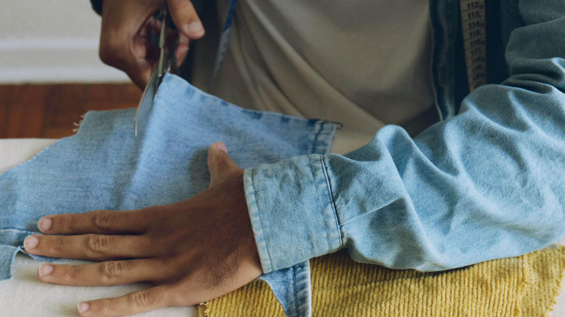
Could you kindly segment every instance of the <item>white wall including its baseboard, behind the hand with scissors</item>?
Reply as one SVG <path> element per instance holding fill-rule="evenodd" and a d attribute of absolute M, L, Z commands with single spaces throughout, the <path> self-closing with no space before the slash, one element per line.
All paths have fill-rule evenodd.
<path fill-rule="evenodd" d="M 98 58 L 89 0 L 0 0 L 0 83 L 128 82 Z"/>

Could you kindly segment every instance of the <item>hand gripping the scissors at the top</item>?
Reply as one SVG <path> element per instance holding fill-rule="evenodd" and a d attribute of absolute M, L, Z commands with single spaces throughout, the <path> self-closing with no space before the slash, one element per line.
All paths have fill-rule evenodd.
<path fill-rule="evenodd" d="M 167 0 L 167 5 L 179 29 L 176 58 L 180 65 L 190 39 L 201 38 L 204 27 L 189 0 Z M 160 0 L 103 1 L 100 59 L 127 73 L 142 90 L 159 58 L 159 50 L 151 45 L 150 38 L 151 29 L 160 29 L 160 23 L 153 19 L 160 6 Z"/>

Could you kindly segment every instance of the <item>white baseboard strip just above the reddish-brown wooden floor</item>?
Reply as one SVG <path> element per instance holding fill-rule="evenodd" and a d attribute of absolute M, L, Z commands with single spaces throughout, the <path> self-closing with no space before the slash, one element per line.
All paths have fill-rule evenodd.
<path fill-rule="evenodd" d="M 131 82 L 102 63 L 97 38 L 0 39 L 0 83 Z"/>

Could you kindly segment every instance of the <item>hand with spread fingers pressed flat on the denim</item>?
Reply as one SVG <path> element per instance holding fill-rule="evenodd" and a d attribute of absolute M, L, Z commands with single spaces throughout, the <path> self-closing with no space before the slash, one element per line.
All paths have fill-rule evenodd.
<path fill-rule="evenodd" d="M 243 170 L 220 142 L 208 149 L 208 169 L 207 190 L 176 204 L 41 218 L 38 227 L 45 235 L 26 237 L 26 252 L 105 262 L 44 264 L 38 268 L 39 279 L 64 285 L 157 285 L 81 302 L 79 314 L 86 317 L 196 305 L 257 278 L 262 268 L 247 212 Z"/>

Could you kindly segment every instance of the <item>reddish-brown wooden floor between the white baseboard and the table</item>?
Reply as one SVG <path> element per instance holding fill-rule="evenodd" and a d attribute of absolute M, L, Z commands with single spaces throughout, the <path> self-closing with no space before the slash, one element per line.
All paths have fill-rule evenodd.
<path fill-rule="evenodd" d="M 0 138 L 63 138 L 90 110 L 134 108 L 132 83 L 0 85 Z"/>

